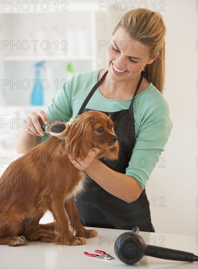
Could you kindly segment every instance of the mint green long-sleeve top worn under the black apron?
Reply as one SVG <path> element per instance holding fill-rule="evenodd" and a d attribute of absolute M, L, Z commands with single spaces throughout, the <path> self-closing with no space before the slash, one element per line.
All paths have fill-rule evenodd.
<path fill-rule="evenodd" d="M 79 112 L 92 87 L 97 83 L 101 69 L 73 75 L 59 90 L 45 111 L 49 121 L 73 120 Z M 132 99 L 109 100 L 97 89 L 86 108 L 104 112 L 129 109 Z M 150 83 L 149 87 L 137 94 L 133 102 L 135 119 L 135 146 L 126 175 L 136 179 L 145 188 L 172 129 L 169 106 L 164 96 Z M 49 134 L 40 137 L 43 142 Z"/>

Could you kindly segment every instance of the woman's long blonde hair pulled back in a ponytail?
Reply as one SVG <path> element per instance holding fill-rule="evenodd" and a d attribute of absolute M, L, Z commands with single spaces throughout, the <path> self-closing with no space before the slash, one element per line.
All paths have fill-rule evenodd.
<path fill-rule="evenodd" d="M 130 38 L 145 43 L 149 48 L 150 57 L 159 52 L 159 56 L 144 71 L 148 81 L 162 93 L 165 77 L 165 34 L 166 27 L 159 12 L 146 8 L 138 8 L 124 14 L 113 30 L 113 35 L 122 26 Z"/>

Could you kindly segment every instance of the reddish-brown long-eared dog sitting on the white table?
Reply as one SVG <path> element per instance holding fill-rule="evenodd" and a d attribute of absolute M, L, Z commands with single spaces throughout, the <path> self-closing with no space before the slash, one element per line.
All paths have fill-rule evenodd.
<path fill-rule="evenodd" d="M 112 121 L 102 112 L 89 111 L 67 125 L 66 139 L 52 136 L 9 165 L 0 178 L 1 245 L 24 245 L 26 239 L 83 245 L 85 238 L 97 236 L 81 224 L 75 205 L 85 173 L 67 157 L 83 160 L 93 147 L 100 150 L 97 158 L 118 157 Z M 46 210 L 55 222 L 39 224 Z"/>

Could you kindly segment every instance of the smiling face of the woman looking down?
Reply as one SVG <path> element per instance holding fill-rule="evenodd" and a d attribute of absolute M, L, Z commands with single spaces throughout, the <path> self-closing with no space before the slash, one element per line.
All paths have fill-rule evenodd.
<path fill-rule="evenodd" d="M 158 57 L 152 58 L 149 47 L 130 38 L 123 27 L 119 27 L 110 40 L 107 50 L 109 78 L 113 80 L 136 79 L 144 67 L 152 64 Z"/>

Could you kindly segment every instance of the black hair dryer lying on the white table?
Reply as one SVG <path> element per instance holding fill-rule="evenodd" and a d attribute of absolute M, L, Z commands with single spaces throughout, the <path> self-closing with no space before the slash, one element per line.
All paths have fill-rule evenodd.
<path fill-rule="evenodd" d="M 185 262 L 198 261 L 198 256 L 190 252 L 146 245 L 144 239 L 138 232 L 139 228 L 134 227 L 131 232 L 121 234 L 115 241 L 115 254 L 118 259 L 126 264 L 135 264 L 145 255 L 166 260 Z"/>

